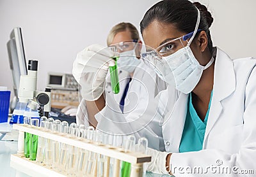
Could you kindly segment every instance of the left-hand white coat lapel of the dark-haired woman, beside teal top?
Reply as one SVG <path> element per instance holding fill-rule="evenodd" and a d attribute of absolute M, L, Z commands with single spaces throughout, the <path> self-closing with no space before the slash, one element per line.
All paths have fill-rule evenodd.
<path fill-rule="evenodd" d="M 167 152 L 179 152 L 180 139 L 184 129 L 188 108 L 188 94 L 179 94 L 179 98 L 164 118 L 163 138 Z"/>

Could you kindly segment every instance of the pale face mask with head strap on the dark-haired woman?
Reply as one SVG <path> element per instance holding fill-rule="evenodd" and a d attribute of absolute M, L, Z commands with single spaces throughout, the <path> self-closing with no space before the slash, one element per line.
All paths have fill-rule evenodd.
<path fill-rule="evenodd" d="M 167 57 L 163 57 L 164 64 L 155 69 L 162 80 L 174 85 L 177 90 L 184 94 L 190 93 L 196 87 L 204 69 L 207 69 L 214 62 L 212 57 L 206 66 L 201 66 L 189 47 L 198 30 L 199 22 L 200 12 L 198 10 L 195 31 L 189 39 L 188 45 Z"/>

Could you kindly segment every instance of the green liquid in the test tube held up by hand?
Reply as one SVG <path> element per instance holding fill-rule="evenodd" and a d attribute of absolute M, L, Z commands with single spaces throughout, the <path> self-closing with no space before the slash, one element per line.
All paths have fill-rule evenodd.
<path fill-rule="evenodd" d="M 113 58 L 113 60 L 115 60 L 115 66 L 109 66 L 111 88 L 112 88 L 112 92 L 114 94 L 118 94 L 119 91 L 120 91 L 119 79 L 118 79 L 118 70 L 117 70 L 117 63 L 116 63 L 116 61 L 118 59 L 119 59 L 119 57 Z"/>

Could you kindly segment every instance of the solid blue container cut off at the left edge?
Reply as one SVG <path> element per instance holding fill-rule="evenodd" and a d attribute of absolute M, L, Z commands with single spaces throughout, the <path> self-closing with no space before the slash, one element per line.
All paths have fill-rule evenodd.
<path fill-rule="evenodd" d="M 10 91 L 0 91 L 0 123 L 8 122 Z"/>

